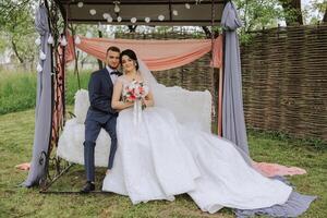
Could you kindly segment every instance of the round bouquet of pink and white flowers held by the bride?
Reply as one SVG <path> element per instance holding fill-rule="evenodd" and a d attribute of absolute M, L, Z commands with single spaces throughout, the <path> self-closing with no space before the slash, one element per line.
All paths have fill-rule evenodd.
<path fill-rule="evenodd" d="M 123 98 L 126 101 L 134 102 L 145 98 L 148 94 L 148 86 L 144 85 L 143 82 L 132 81 L 123 89 Z"/>

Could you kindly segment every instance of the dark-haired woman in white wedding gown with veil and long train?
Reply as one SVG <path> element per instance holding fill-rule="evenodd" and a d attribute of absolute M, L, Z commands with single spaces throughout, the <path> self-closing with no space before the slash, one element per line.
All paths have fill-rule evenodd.
<path fill-rule="evenodd" d="M 180 124 L 169 110 L 156 107 L 160 86 L 134 51 L 122 51 L 120 61 L 124 75 L 114 84 L 111 102 L 120 111 L 119 145 L 102 191 L 126 195 L 133 204 L 173 201 L 174 195 L 187 193 L 208 213 L 222 207 L 267 208 L 290 201 L 292 187 L 261 174 L 231 142 Z M 125 100 L 126 88 L 135 83 L 148 88 L 142 111 Z M 296 209 L 303 213 L 312 201 L 301 199 Z"/>

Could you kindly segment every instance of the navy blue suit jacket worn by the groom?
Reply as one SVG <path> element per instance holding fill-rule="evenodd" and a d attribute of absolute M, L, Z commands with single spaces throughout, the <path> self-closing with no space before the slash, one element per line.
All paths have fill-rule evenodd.
<path fill-rule="evenodd" d="M 113 84 L 106 68 L 92 73 L 88 83 L 90 106 L 85 122 L 95 120 L 105 123 L 111 116 L 118 116 L 118 112 L 111 108 L 112 93 Z"/>

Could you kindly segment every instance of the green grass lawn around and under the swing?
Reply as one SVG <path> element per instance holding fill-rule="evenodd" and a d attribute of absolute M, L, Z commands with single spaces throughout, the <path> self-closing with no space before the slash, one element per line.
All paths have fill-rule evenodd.
<path fill-rule="evenodd" d="M 33 137 L 34 110 L 0 116 L 0 217 L 233 217 L 227 208 L 215 215 L 202 213 L 187 195 L 178 196 L 174 202 L 155 201 L 133 206 L 128 197 L 117 194 L 40 194 L 38 189 L 17 187 L 27 172 L 14 166 L 29 161 Z M 326 146 L 317 148 L 305 142 L 253 131 L 249 141 L 255 160 L 306 169 L 307 174 L 289 178 L 299 192 L 318 196 L 302 217 L 327 217 Z M 97 169 L 99 181 L 104 173 L 105 169 Z M 78 190 L 83 181 L 83 167 L 74 166 L 51 189 Z"/>

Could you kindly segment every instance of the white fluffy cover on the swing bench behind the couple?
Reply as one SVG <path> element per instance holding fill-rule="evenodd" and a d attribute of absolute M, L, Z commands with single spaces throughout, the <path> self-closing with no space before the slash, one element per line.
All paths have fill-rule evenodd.
<path fill-rule="evenodd" d="M 211 95 L 209 92 L 190 92 L 180 87 L 158 87 L 161 101 L 157 107 L 170 110 L 182 124 L 210 132 Z M 68 120 L 58 142 L 57 155 L 71 162 L 84 164 L 85 125 L 89 107 L 88 92 L 80 89 L 75 94 L 75 118 Z M 102 129 L 96 141 L 95 165 L 106 167 L 110 152 L 110 136 Z"/>

